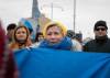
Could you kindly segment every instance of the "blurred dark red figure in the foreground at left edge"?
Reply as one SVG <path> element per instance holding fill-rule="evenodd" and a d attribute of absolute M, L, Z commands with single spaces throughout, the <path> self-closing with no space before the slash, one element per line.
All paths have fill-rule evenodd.
<path fill-rule="evenodd" d="M 13 54 L 8 48 L 6 32 L 0 22 L 0 78 L 18 78 L 19 73 Z"/>

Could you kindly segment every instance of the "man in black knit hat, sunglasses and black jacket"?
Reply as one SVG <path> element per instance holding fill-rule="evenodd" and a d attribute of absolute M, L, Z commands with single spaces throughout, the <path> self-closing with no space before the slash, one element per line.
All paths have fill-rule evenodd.
<path fill-rule="evenodd" d="M 97 21 L 94 27 L 95 40 L 89 41 L 84 46 L 85 52 L 110 53 L 110 38 L 108 37 L 108 26 L 106 21 Z"/>

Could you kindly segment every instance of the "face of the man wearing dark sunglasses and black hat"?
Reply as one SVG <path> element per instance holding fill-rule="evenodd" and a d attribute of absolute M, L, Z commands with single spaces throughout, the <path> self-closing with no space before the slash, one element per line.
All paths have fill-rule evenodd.
<path fill-rule="evenodd" d="M 107 35 L 107 30 L 105 26 L 98 26 L 96 30 L 95 30 L 95 35 L 96 36 L 105 36 Z"/>

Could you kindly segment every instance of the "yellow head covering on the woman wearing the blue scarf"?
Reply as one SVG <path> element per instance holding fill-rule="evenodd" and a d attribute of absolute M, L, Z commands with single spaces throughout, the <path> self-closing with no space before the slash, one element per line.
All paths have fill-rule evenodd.
<path fill-rule="evenodd" d="M 52 27 L 52 26 L 58 26 L 61 30 L 62 30 L 62 33 L 63 33 L 63 36 L 66 36 L 67 34 L 67 27 L 61 23 L 61 22 L 57 22 L 57 21 L 54 21 L 54 22 L 50 22 L 47 23 L 44 29 L 43 29 L 43 36 L 45 37 L 46 36 L 46 31 Z"/>

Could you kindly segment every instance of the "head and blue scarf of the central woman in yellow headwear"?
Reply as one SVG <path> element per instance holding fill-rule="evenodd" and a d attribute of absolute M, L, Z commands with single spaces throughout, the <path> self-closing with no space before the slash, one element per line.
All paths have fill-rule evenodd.
<path fill-rule="evenodd" d="M 50 22 L 43 30 L 44 40 L 40 43 L 38 47 L 74 51 L 73 42 L 66 36 L 67 29 L 61 22 Z"/>

